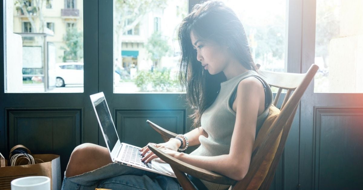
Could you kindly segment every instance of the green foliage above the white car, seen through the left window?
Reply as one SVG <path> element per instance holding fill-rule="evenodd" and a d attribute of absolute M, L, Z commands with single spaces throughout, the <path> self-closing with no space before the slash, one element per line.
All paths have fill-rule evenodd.
<path fill-rule="evenodd" d="M 78 32 L 77 28 L 68 28 L 63 40 L 66 47 L 61 47 L 65 50 L 64 55 L 61 56 L 63 62 L 66 61 L 79 61 L 83 58 L 83 35 Z"/>

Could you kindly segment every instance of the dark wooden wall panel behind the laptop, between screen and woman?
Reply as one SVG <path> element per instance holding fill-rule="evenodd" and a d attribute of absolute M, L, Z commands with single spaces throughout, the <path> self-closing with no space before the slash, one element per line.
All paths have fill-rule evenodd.
<path fill-rule="evenodd" d="M 120 110 L 115 109 L 115 126 L 121 142 L 145 146 L 148 142 L 163 142 L 160 135 L 147 123 L 150 120 L 171 132 L 185 133 L 185 110 Z M 100 141 L 104 144 L 101 137 Z M 101 144 L 101 143 L 100 143 Z"/>

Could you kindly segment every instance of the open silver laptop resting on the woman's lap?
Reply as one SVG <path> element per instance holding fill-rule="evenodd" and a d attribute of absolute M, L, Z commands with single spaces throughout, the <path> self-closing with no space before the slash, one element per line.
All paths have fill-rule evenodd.
<path fill-rule="evenodd" d="M 103 92 L 92 94 L 90 98 L 113 162 L 176 178 L 168 163 L 156 158 L 144 164 L 141 162 L 140 147 L 120 142 Z"/>

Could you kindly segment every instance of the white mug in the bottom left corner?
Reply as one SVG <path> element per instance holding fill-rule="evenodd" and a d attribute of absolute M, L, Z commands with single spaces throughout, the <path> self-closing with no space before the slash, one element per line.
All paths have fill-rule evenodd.
<path fill-rule="evenodd" d="M 11 181 L 11 190 L 50 190 L 50 179 L 46 176 L 29 176 Z"/>

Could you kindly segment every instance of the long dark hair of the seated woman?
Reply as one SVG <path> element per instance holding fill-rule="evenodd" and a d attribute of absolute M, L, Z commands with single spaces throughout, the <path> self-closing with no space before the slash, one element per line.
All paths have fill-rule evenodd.
<path fill-rule="evenodd" d="M 223 2 L 209 0 L 196 4 L 180 24 L 178 36 L 181 48 L 179 79 L 187 92 L 187 102 L 193 109 L 193 126 L 200 126 L 203 112 L 213 103 L 226 80 L 223 72 L 211 75 L 197 60 L 190 34 L 199 40 L 225 44 L 233 56 L 249 70 L 257 70 L 249 49 L 245 30 L 236 13 Z"/>

